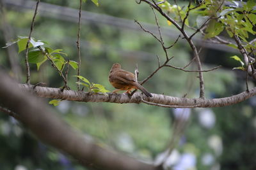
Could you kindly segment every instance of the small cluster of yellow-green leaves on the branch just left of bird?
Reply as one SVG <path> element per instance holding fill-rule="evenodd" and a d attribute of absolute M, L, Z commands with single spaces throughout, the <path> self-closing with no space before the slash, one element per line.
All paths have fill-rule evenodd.
<path fill-rule="evenodd" d="M 106 92 L 109 92 L 109 90 L 106 90 L 103 85 L 90 83 L 90 81 L 84 78 L 83 76 L 76 76 L 76 77 L 84 81 L 84 82 L 76 82 L 76 83 L 86 87 L 88 89 L 88 92 L 95 92 L 95 93 L 102 92 L 103 94 L 106 94 Z"/>

